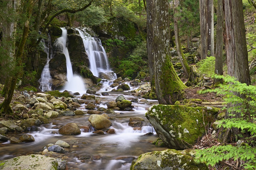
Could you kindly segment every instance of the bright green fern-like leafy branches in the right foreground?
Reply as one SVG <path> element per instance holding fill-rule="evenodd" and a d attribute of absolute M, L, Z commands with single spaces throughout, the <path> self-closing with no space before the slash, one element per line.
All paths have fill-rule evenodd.
<path fill-rule="evenodd" d="M 232 105 L 231 107 L 224 109 L 227 109 L 229 116 L 234 117 L 221 120 L 221 124 L 219 124 L 218 127 L 235 127 L 241 130 L 242 134 L 240 137 L 246 137 L 245 135 L 248 135 L 248 133 L 250 133 L 251 136 L 245 138 L 247 139 L 245 140 L 247 144 L 244 146 L 225 145 L 198 150 L 198 160 L 206 161 L 207 164 L 213 166 L 220 161 L 228 160 L 230 158 L 234 160 L 240 158 L 241 160 L 246 161 L 243 165 L 245 168 L 253 170 L 256 168 L 256 148 L 251 146 L 253 143 L 248 139 L 254 139 L 256 137 L 256 87 L 240 83 L 231 76 L 215 75 L 214 78 L 222 78 L 227 84 L 220 84 L 219 88 L 204 90 L 201 91 L 201 93 L 215 92 L 217 95 L 225 95 L 225 102 L 231 103 Z M 243 97 L 235 95 L 237 93 L 241 94 Z M 241 117 L 235 117 L 237 114 Z"/>

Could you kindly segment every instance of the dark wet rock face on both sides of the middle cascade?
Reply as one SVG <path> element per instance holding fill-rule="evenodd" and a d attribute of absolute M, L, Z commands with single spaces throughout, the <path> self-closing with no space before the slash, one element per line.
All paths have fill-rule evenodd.
<path fill-rule="evenodd" d="M 90 69 L 87 68 L 89 59 L 82 38 L 74 28 L 66 27 L 66 29 L 68 33 L 66 45 L 72 63 L 73 74 L 82 76 L 87 87 L 96 84 L 97 78 L 93 76 Z M 53 41 L 53 57 L 49 61 L 49 68 L 52 76 L 52 90 L 59 90 L 67 81 L 66 57 L 56 41 L 57 38 L 61 37 L 62 30 L 53 27 L 53 31 L 50 32 L 50 35 Z"/>

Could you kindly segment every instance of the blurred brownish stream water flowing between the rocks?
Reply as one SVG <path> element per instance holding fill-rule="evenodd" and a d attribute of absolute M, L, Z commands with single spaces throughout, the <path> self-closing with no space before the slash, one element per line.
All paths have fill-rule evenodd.
<path fill-rule="evenodd" d="M 105 107 L 109 101 L 115 101 L 121 93 L 109 92 L 109 96 L 100 96 L 100 107 Z M 127 100 L 135 98 L 129 93 L 124 95 Z M 140 98 L 139 98 L 140 100 Z M 145 117 L 150 104 L 157 103 L 156 100 L 149 100 L 145 103 L 132 103 L 134 111 L 116 111 L 123 114 L 108 114 L 109 117 L 115 117 L 117 120 L 111 120 L 112 126 L 116 134 L 94 134 L 91 132 L 82 132 L 80 135 L 60 135 L 58 129 L 68 123 L 76 123 L 78 126 L 89 126 L 89 114 L 75 116 L 59 116 L 52 119 L 52 124 L 42 125 L 39 131 L 31 132 L 35 138 L 35 142 L 10 144 L 10 142 L 2 143 L 0 147 L 0 160 L 11 159 L 20 155 L 38 154 L 43 151 L 43 147 L 47 144 L 55 144 L 57 140 L 63 140 L 69 143 L 71 140 L 76 140 L 79 147 L 65 148 L 66 153 L 54 158 L 61 158 L 68 163 L 68 169 L 79 170 L 129 170 L 132 160 L 137 159 L 139 155 L 167 149 L 165 147 L 157 147 L 151 144 L 158 136 L 153 129 L 154 135 L 144 135 L 152 132 L 152 126 Z M 84 110 L 84 107 L 79 108 Z M 129 119 L 131 117 L 141 117 L 145 121 L 141 127 L 129 127 Z M 52 133 L 53 132 L 53 133 Z M 7 137 L 19 138 L 23 134 L 9 133 Z M 82 162 L 78 160 L 80 156 L 91 155 L 93 161 Z"/>

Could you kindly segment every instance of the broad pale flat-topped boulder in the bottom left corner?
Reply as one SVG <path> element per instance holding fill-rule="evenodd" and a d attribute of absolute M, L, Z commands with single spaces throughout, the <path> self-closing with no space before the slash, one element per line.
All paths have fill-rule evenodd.
<path fill-rule="evenodd" d="M 44 155 L 26 155 L 18 156 L 9 160 L 0 161 L 0 169 L 58 169 L 58 162 L 55 158 Z"/>

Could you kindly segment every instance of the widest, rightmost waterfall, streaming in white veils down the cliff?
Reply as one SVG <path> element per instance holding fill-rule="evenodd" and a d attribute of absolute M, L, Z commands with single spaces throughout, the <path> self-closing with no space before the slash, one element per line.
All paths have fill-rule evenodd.
<path fill-rule="evenodd" d="M 84 48 L 89 57 L 90 70 L 93 75 L 100 77 L 101 74 L 104 74 L 105 77 L 108 77 L 107 79 L 116 79 L 117 76 L 109 67 L 108 57 L 100 39 L 91 37 L 86 33 L 85 29 L 81 29 L 76 28 L 83 39 Z"/>

